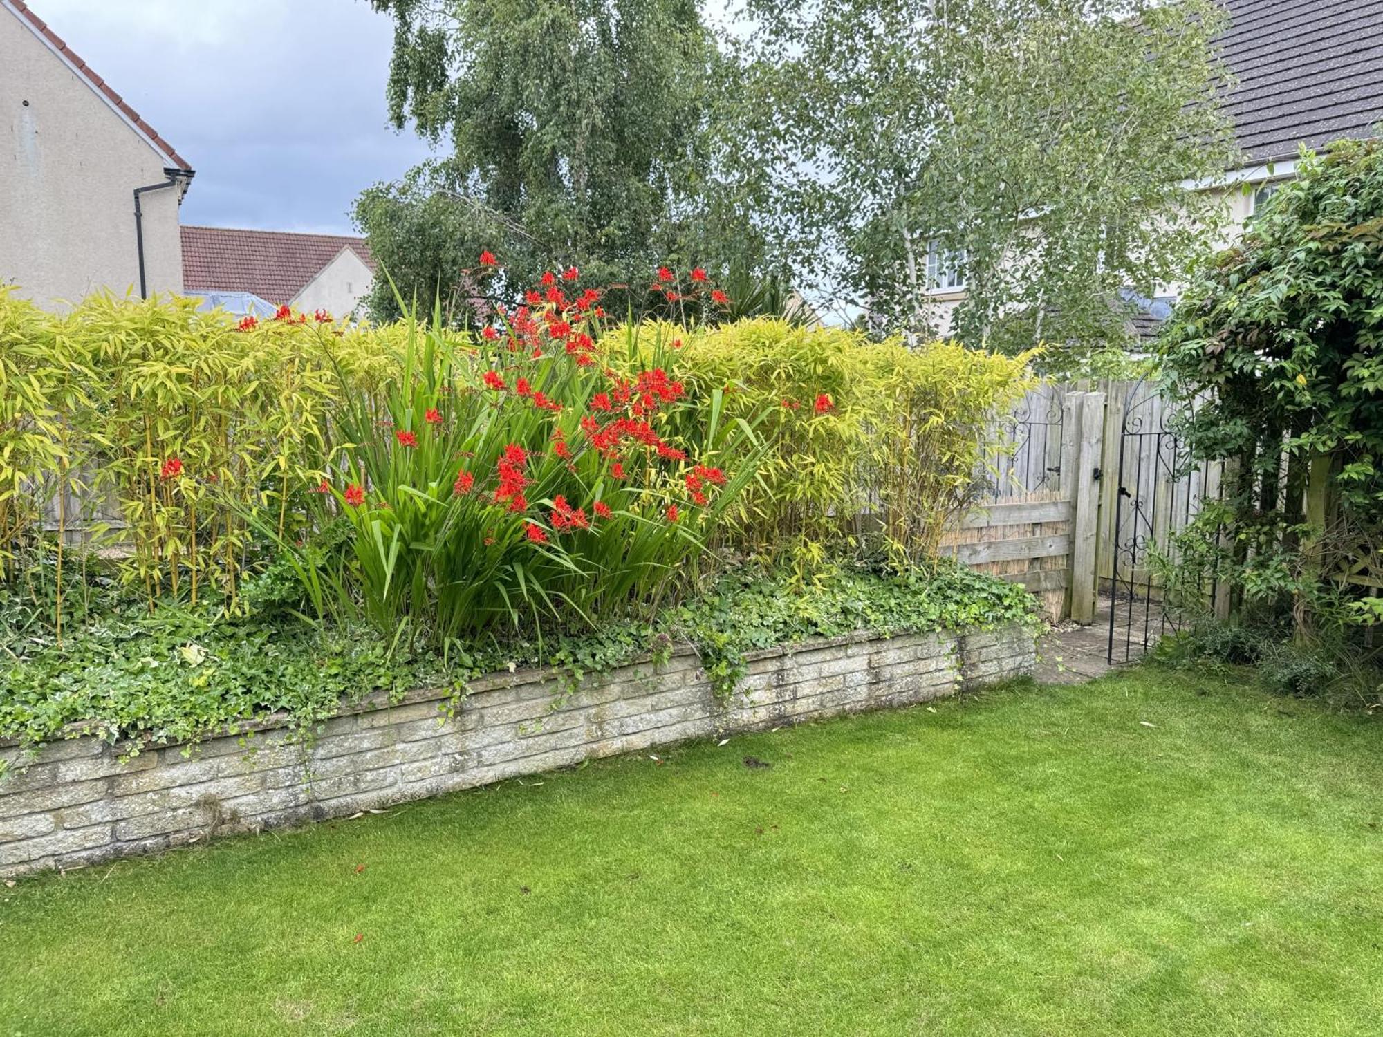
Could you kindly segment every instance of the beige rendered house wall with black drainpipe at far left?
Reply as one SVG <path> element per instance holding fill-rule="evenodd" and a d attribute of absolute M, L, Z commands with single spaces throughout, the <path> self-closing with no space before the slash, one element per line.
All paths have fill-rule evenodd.
<path fill-rule="evenodd" d="M 0 0 L 0 283 L 57 307 L 183 290 L 187 159 L 24 0 Z"/>

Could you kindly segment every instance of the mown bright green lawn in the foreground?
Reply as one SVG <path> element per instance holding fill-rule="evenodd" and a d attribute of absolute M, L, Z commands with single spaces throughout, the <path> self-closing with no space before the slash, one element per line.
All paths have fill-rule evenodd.
<path fill-rule="evenodd" d="M 658 755 L 0 886 L 0 1036 L 1383 1026 L 1377 719 L 1142 669 Z"/>

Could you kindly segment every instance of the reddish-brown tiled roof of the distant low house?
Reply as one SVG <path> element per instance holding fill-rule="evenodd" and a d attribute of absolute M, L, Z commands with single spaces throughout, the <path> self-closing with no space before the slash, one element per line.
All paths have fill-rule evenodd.
<path fill-rule="evenodd" d="M 364 238 L 344 234 L 239 231 L 183 227 L 183 288 L 187 292 L 253 292 L 266 303 L 293 301 L 307 282 L 350 249 L 375 268 Z"/>

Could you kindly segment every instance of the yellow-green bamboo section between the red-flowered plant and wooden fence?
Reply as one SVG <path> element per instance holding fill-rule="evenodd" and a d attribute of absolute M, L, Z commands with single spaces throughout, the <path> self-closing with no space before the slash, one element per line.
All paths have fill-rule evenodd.
<path fill-rule="evenodd" d="M 770 319 L 674 336 L 669 362 L 690 394 L 719 394 L 727 418 L 754 420 L 773 444 L 732 509 L 729 543 L 809 561 L 862 546 L 875 528 L 896 561 L 934 557 L 942 527 L 969 503 L 993 415 L 1030 386 L 1029 355 L 953 343 L 906 348 Z"/>

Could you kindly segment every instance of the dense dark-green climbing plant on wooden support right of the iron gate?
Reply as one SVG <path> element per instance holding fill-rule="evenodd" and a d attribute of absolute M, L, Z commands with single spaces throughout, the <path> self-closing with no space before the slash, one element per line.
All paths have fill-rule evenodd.
<path fill-rule="evenodd" d="M 1383 144 L 1306 158 L 1187 289 L 1160 348 L 1173 398 L 1206 400 L 1187 422 L 1192 452 L 1231 465 L 1184 564 L 1199 560 L 1250 606 L 1289 613 L 1303 637 L 1375 617 Z"/>

